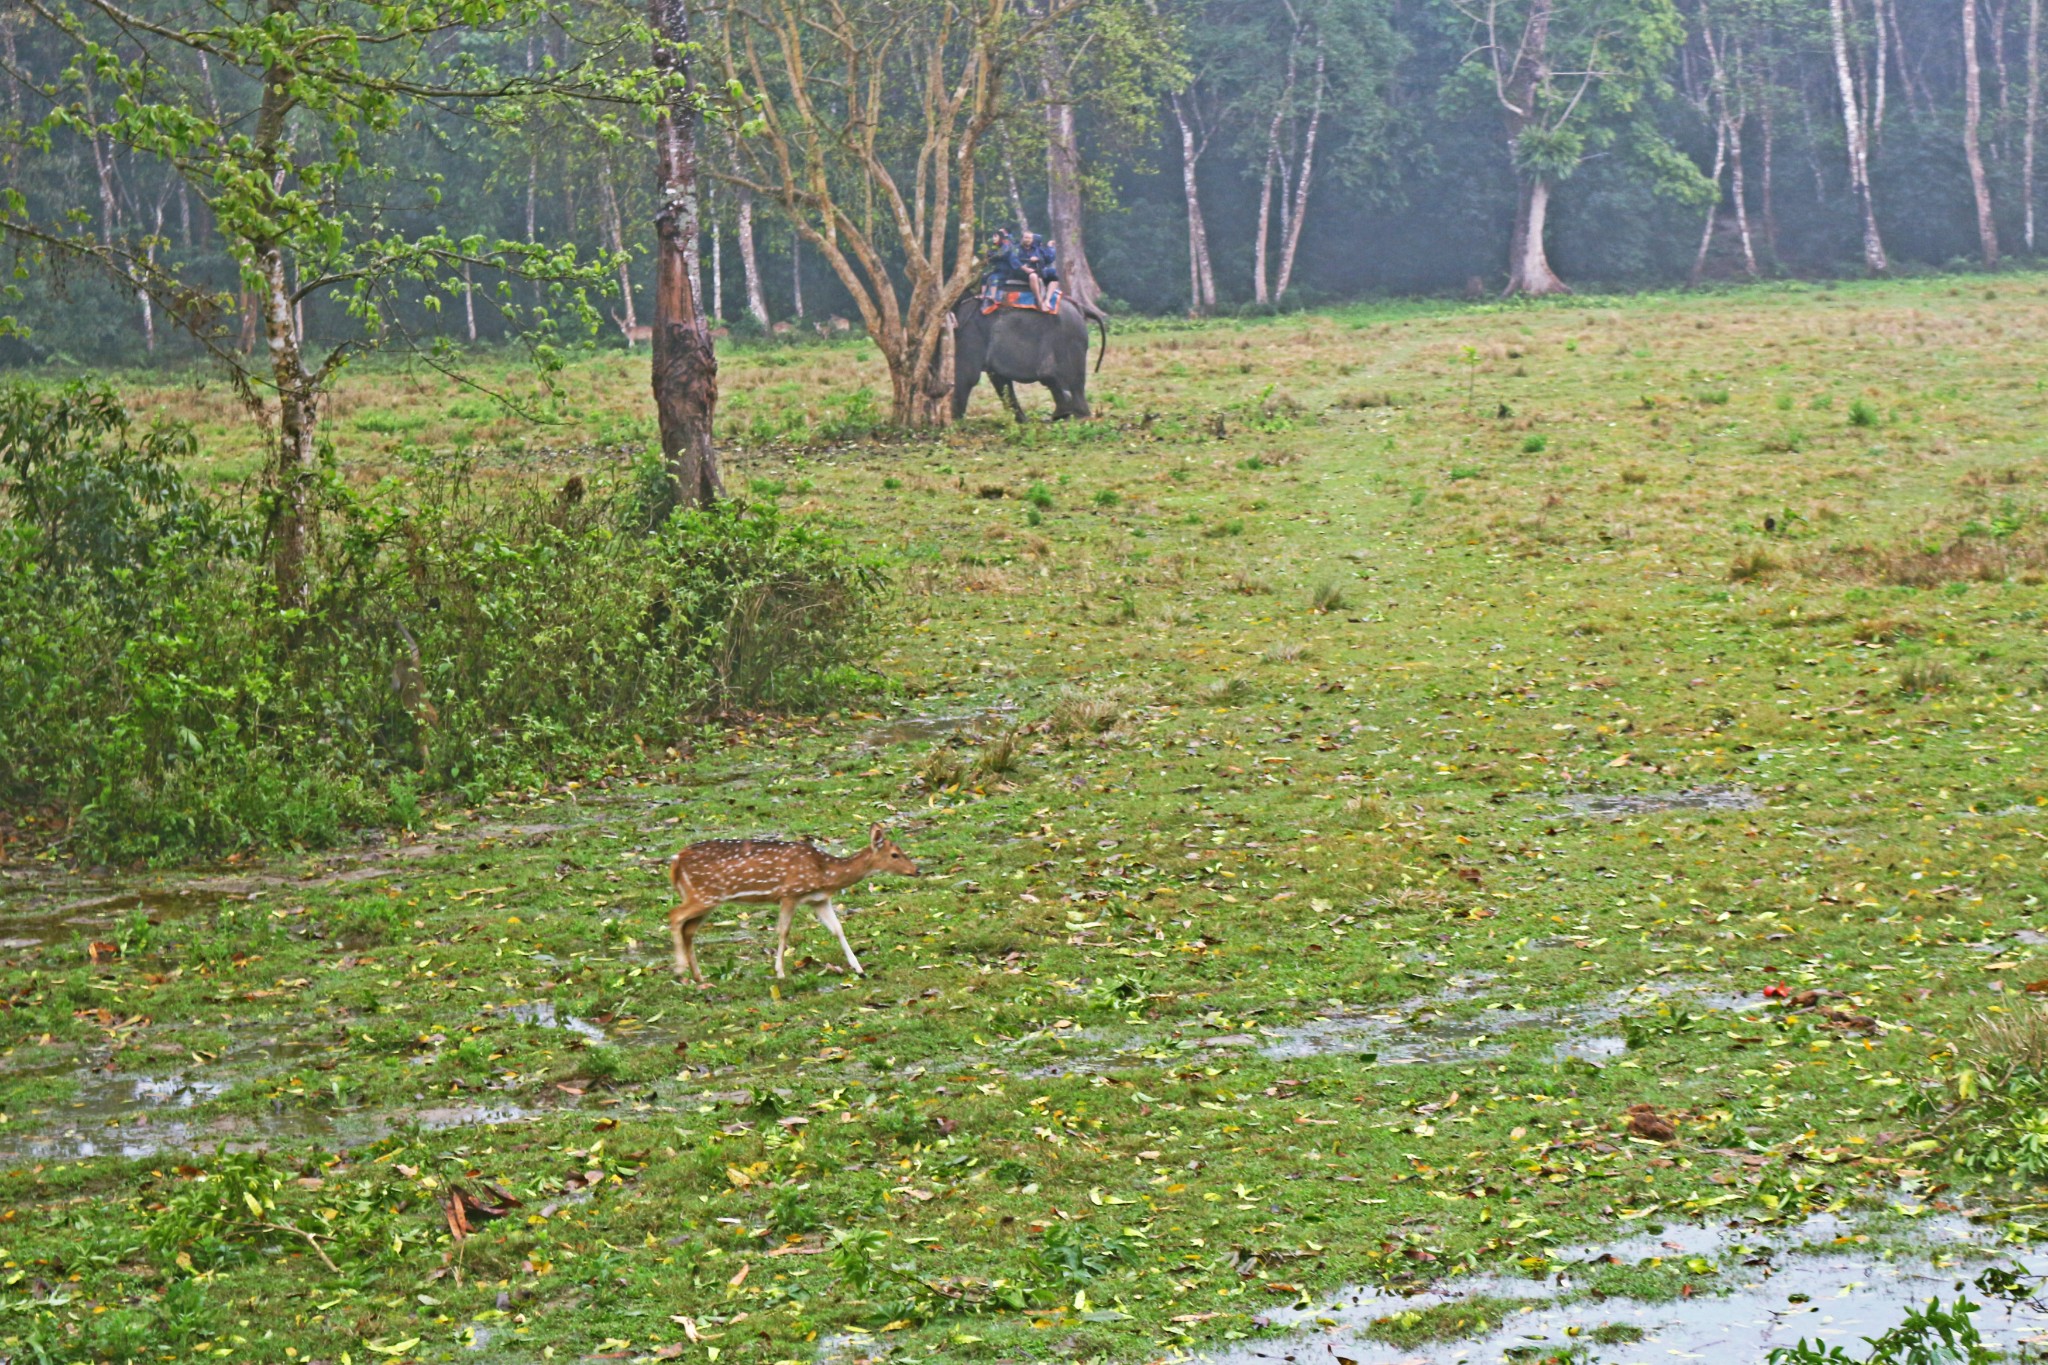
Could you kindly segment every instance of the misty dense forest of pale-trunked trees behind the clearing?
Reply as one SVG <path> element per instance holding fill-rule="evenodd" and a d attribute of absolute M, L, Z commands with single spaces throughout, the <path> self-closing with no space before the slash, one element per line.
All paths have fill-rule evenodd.
<path fill-rule="evenodd" d="M 164 299 L 123 287 L 119 270 L 86 268 L 123 256 L 240 289 L 254 313 L 195 192 L 195 147 L 160 156 L 119 135 L 109 111 L 129 68 L 109 61 L 100 80 L 82 61 L 92 43 L 127 61 L 121 31 L 147 10 L 18 8 L 0 23 L 0 113 L 12 131 L 0 170 L 8 219 L 29 229 L 14 235 L 23 268 L 8 309 L 20 336 L 0 342 L 0 360 L 190 356 Z M 723 18 L 707 8 L 698 25 L 717 31 Z M 1141 313 L 1995 262 L 2034 250 L 2038 31 L 2038 0 L 1073 6 L 1012 65 L 1014 98 L 975 153 L 977 231 L 1051 227 L 1073 256 L 1077 233 L 1049 194 L 1067 182 L 1098 295 Z M 473 68 L 516 82 L 602 65 L 616 29 L 532 10 L 516 27 L 449 33 L 426 45 L 461 43 Z M 195 53 L 207 65 L 203 47 L 184 51 Z M 207 68 L 217 100 L 215 80 Z M 649 311 L 649 129 L 625 102 L 573 94 L 557 84 L 502 119 L 479 115 L 485 100 L 420 98 L 356 135 L 379 168 L 375 213 L 408 233 L 573 246 L 586 266 L 612 262 L 594 307 L 580 319 L 557 311 L 555 323 L 616 340 Z M 915 92 L 885 108 L 920 117 Z M 858 323 L 784 205 L 717 180 L 721 162 L 743 156 L 743 115 L 713 117 L 711 129 L 698 268 L 713 315 L 741 329 Z M 913 143 L 911 129 L 903 145 Z M 1548 282 L 1516 270 L 1534 176 L 1548 194 L 1548 223 L 1538 217 Z M 51 252 L 63 231 L 96 237 L 106 256 Z M 436 289 L 385 299 L 379 323 L 414 340 L 489 342 L 532 325 L 530 313 L 492 305 L 504 291 L 541 299 L 537 284 L 473 274 L 432 284 L 436 299 Z M 311 338 L 332 344 L 356 325 L 346 291 L 305 307 Z M 262 344 L 254 315 L 223 332 L 240 332 L 231 342 L 244 350 Z"/>

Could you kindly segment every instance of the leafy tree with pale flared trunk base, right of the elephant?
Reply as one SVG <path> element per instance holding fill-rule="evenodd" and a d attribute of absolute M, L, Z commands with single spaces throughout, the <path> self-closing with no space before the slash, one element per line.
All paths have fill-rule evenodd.
<path fill-rule="evenodd" d="M 1468 43 L 1452 104 L 1491 106 L 1516 172 L 1507 295 L 1567 293 L 1544 241 L 1550 199 L 1593 153 L 1626 153 L 1659 192 L 1704 199 L 1706 178 L 1651 121 L 1683 39 L 1671 0 L 1450 0 Z"/>

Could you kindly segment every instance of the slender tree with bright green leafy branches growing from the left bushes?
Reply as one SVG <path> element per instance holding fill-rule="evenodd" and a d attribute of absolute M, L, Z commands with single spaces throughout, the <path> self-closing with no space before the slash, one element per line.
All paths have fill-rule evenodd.
<path fill-rule="evenodd" d="M 207 211 L 254 301 L 264 350 L 229 340 L 231 291 L 186 280 L 147 233 L 80 225 L 70 205 L 6 190 L 0 229 L 41 260 L 106 270 L 195 338 L 227 370 L 268 428 L 262 503 L 276 593 L 307 604 L 305 561 L 319 530 L 322 407 L 334 377 L 365 352 L 410 346 L 446 364 L 408 323 L 408 309 L 471 297 L 475 274 L 528 276 L 567 291 L 600 282 L 573 250 L 440 227 L 408 229 L 436 186 L 403 174 L 401 131 L 420 119 L 479 117 L 539 90 L 508 74 L 514 0 L 305 4 L 213 0 L 172 8 L 119 0 L 37 0 L 37 18 L 72 51 L 37 125 L 170 168 Z M 477 45 L 504 35 L 506 61 L 477 61 L 444 37 Z M 518 319 L 510 287 L 489 295 Z M 307 305 L 330 334 L 309 336 Z M 524 329 L 524 327 L 522 327 Z M 537 356 L 549 364 L 547 348 Z"/>

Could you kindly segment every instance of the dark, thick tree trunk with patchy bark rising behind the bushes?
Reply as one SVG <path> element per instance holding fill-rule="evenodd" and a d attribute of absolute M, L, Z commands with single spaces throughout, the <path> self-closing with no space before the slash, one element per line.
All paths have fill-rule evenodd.
<path fill-rule="evenodd" d="M 686 0 L 647 0 L 653 65 L 672 84 L 655 119 L 653 405 L 662 426 L 662 458 L 686 508 L 709 508 L 723 493 L 719 454 L 711 444 L 719 405 L 719 358 L 696 305 L 696 82 L 690 74 L 690 12 Z"/>

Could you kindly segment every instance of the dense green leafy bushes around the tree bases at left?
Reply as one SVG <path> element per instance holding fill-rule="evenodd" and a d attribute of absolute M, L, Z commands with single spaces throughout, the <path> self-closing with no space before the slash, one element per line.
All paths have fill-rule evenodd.
<path fill-rule="evenodd" d="M 104 391 L 0 395 L 0 802 L 92 857 L 328 843 L 862 686 L 881 571 L 772 505 L 326 483 L 309 602 Z"/>

